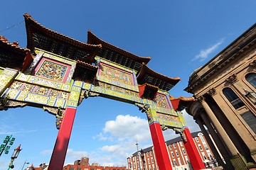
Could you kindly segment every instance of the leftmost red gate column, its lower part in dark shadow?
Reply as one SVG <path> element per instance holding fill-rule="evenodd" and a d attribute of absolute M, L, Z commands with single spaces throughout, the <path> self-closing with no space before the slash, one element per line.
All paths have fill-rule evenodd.
<path fill-rule="evenodd" d="M 75 119 L 76 108 L 66 108 L 63 121 L 58 131 L 58 136 L 50 158 L 49 170 L 62 170 L 65 162 L 65 155 L 68 149 L 71 130 Z"/>

